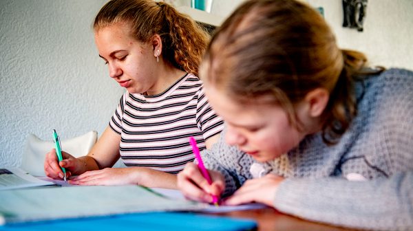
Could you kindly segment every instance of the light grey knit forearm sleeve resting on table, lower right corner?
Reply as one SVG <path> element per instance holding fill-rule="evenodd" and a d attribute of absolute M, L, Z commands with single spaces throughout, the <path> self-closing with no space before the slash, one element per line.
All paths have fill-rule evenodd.
<path fill-rule="evenodd" d="M 413 230 L 413 172 L 388 179 L 286 179 L 277 210 L 303 219 L 374 230 Z"/>

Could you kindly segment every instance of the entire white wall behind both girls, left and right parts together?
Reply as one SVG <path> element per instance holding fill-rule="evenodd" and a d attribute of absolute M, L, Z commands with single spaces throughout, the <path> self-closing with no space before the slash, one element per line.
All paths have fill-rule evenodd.
<path fill-rule="evenodd" d="M 19 166 L 28 133 L 51 140 L 56 129 L 64 139 L 107 126 L 123 89 L 93 41 L 91 23 L 106 1 L 0 0 L 0 166 Z M 215 0 L 211 13 L 227 17 L 242 1 Z M 374 65 L 413 69 L 412 0 L 368 1 L 364 32 L 341 27 L 341 0 L 307 2 L 324 7 L 341 47 Z"/>

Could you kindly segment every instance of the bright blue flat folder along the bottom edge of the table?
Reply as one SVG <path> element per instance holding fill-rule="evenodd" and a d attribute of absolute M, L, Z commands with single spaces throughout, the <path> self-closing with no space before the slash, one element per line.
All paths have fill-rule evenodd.
<path fill-rule="evenodd" d="M 32 230 L 180 230 L 180 231 L 231 231 L 256 230 L 257 223 L 251 219 L 215 217 L 192 212 L 148 212 L 123 214 L 108 217 L 89 217 L 83 219 L 63 219 L 15 223 L 0 226 L 2 231 Z"/>

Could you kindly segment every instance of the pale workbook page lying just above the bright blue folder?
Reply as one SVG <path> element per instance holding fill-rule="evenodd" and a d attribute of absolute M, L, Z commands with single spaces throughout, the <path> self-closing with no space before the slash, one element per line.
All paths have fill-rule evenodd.
<path fill-rule="evenodd" d="M 141 186 L 76 186 L 0 191 L 0 224 L 131 212 L 198 210 L 208 206 L 169 199 Z"/>

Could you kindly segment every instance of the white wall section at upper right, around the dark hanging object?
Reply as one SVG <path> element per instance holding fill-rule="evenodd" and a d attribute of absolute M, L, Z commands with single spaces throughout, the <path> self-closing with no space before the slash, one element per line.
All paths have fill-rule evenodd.
<path fill-rule="evenodd" d="M 413 69 L 413 1 L 369 0 L 363 32 L 343 28 L 341 0 L 307 0 L 324 8 L 341 48 L 365 53 L 371 65 Z"/>

